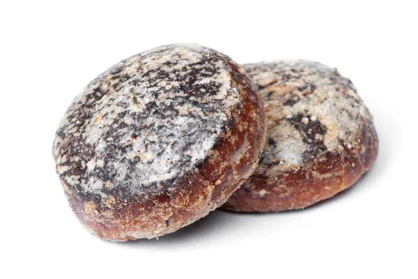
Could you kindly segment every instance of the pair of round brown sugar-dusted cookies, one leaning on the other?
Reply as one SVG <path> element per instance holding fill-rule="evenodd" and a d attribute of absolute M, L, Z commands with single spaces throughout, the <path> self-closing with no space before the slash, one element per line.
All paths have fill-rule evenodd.
<path fill-rule="evenodd" d="M 174 232 L 222 205 L 304 208 L 353 185 L 377 148 L 371 115 L 335 69 L 241 68 L 182 44 L 134 55 L 88 84 L 53 153 L 82 225 L 126 241 Z"/>

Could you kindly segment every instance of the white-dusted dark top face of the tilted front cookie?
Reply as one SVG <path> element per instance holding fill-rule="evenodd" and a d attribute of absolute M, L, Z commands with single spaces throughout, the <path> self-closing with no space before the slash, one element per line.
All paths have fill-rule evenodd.
<path fill-rule="evenodd" d="M 134 55 L 102 73 L 61 119 L 61 179 L 87 193 L 176 179 L 208 157 L 238 105 L 229 57 L 194 44 Z"/>

